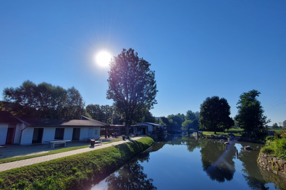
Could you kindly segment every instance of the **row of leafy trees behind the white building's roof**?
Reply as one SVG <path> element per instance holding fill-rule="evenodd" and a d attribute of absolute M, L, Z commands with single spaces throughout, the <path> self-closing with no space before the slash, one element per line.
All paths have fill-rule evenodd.
<path fill-rule="evenodd" d="M 87 115 L 85 102 L 73 86 L 64 89 L 47 82 L 36 85 L 27 80 L 19 87 L 5 88 L 3 98 L 12 103 L 9 111 L 18 116 L 79 119 L 80 115 Z"/>

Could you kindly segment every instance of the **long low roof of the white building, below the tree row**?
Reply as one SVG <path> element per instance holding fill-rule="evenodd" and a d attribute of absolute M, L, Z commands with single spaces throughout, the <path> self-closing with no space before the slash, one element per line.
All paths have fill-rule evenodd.
<path fill-rule="evenodd" d="M 65 120 L 65 119 L 50 119 L 50 118 L 34 118 L 34 117 L 17 117 L 28 126 L 42 126 L 42 127 L 59 127 L 59 126 L 83 126 L 83 127 L 103 127 L 105 125 L 99 124 L 90 120 Z M 96 121 L 96 120 L 95 120 Z"/>

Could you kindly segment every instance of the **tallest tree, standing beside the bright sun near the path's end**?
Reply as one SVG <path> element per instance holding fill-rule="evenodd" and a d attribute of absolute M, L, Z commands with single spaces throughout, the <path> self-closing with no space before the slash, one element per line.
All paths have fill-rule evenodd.
<path fill-rule="evenodd" d="M 150 65 L 132 49 L 123 49 L 110 62 L 106 95 L 107 99 L 114 101 L 117 111 L 124 115 L 127 135 L 130 125 L 140 120 L 145 110 L 157 104 L 155 72 L 150 70 Z"/>

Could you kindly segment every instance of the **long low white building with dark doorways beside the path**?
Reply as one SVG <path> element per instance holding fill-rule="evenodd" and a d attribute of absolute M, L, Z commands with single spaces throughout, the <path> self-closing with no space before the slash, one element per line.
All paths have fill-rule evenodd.
<path fill-rule="evenodd" d="M 84 140 L 100 137 L 106 123 L 81 116 L 80 120 L 16 117 L 0 111 L 0 145 L 31 145 L 51 140 Z"/>

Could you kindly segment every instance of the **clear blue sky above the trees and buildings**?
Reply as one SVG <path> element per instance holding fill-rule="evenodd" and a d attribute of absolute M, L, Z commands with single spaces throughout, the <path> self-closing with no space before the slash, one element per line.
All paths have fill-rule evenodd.
<path fill-rule="evenodd" d="M 265 115 L 286 120 L 285 1 L 1 1 L 0 90 L 24 80 L 75 86 L 106 100 L 108 68 L 94 56 L 132 48 L 155 70 L 155 116 L 227 99 L 231 116 L 256 89 Z"/>

